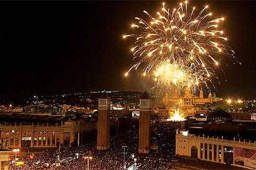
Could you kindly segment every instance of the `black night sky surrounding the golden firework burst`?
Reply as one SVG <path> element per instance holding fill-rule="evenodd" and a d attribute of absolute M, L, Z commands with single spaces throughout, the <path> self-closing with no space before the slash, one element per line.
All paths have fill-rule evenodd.
<path fill-rule="evenodd" d="M 179 1 L 169 2 L 176 4 Z M 209 4 L 224 16 L 228 44 L 242 65 L 225 68 L 221 97 L 255 97 L 256 2 L 190 1 Z M 124 79 L 132 61 L 132 42 L 123 41 L 134 17 L 152 14 L 161 2 L 0 2 L 0 97 L 98 89 L 139 90 L 147 84 L 134 71 Z M 232 62 L 231 62 L 232 63 Z"/>

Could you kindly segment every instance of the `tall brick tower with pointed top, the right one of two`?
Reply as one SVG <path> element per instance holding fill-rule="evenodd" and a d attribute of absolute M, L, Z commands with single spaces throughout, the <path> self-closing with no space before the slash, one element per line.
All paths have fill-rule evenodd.
<path fill-rule="evenodd" d="M 149 153 L 151 149 L 150 116 L 151 99 L 145 91 L 140 97 L 140 119 L 139 119 L 139 153 Z"/>

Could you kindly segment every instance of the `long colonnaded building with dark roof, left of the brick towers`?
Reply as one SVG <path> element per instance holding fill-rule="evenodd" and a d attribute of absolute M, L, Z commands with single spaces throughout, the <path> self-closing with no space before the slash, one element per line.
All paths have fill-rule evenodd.
<path fill-rule="evenodd" d="M 83 116 L 0 116 L 0 143 L 3 148 L 58 147 L 80 145 L 96 129 L 95 118 Z"/>

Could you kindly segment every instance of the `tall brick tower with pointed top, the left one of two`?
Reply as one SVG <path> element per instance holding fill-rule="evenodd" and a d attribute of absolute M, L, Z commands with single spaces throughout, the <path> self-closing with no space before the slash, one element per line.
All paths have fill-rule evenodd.
<path fill-rule="evenodd" d="M 106 93 L 99 99 L 98 111 L 97 150 L 107 150 L 109 148 L 110 99 Z"/>

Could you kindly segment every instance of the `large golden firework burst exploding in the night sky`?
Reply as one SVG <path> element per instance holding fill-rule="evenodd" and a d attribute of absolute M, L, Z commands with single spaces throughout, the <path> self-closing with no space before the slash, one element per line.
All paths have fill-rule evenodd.
<path fill-rule="evenodd" d="M 219 28 L 224 18 L 213 18 L 208 6 L 197 10 L 185 1 L 167 9 L 163 3 L 155 17 L 143 12 L 148 22 L 135 17 L 130 26 L 135 33 L 122 36 L 135 39 L 130 49 L 134 65 L 125 76 L 140 67 L 158 86 L 198 86 L 210 81 L 220 60 L 230 55 L 224 44 L 228 38 Z"/>

